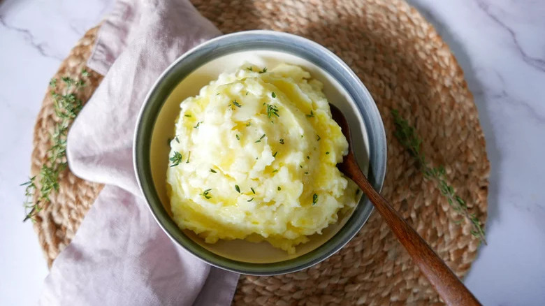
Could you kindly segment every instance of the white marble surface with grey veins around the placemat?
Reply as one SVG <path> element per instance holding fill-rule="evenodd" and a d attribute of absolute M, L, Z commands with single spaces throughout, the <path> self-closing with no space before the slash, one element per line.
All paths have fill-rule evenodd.
<path fill-rule="evenodd" d="M 0 0 L 0 301 L 36 303 L 45 260 L 21 222 L 49 78 L 112 0 Z M 465 72 L 491 160 L 488 245 L 465 279 L 484 305 L 545 305 L 545 2 L 412 0 Z"/>

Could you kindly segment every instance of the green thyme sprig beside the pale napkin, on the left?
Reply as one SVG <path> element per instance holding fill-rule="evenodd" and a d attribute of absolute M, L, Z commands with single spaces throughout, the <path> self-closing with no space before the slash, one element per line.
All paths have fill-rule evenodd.
<path fill-rule="evenodd" d="M 52 192 L 59 191 L 59 175 L 68 166 L 66 161 L 68 128 L 83 107 L 82 100 L 78 98 L 78 92 L 82 87 L 85 87 L 83 78 L 87 78 L 89 72 L 83 69 L 81 76 L 80 79 L 73 79 L 68 76 L 61 78 L 61 82 L 66 85 L 62 93 L 57 92 L 57 79 L 52 79 L 49 83 L 52 88 L 50 94 L 53 99 L 54 113 L 58 122 L 50 134 L 50 143 L 52 145 L 46 152 L 47 160 L 40 169 L 40 173 L 21 184 L 21 186 L 26 186 L 24 189 L 26 216 L 23 221 L 28 219 L 35 221 L 36 214 L 51 202 L 50 195 Z M 39 182 L 39 184 L 36 185 L 36 182 Z"/>

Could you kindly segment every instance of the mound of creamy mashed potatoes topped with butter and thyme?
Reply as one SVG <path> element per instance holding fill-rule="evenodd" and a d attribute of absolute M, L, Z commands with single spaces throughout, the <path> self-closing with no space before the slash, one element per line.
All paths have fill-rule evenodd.
<path fill-rule="evenodd" d="M 167 171 L 177 225 L 293 254 L 353 207 L 356 186 L 335 166 L 348 143 L 322 87 L 298 66 L 247 64 L 183 101 Z"/>

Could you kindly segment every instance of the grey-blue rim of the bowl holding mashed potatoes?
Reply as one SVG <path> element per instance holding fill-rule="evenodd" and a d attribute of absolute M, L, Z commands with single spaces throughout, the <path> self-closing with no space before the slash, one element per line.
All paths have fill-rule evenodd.
<path fill-rule="evenodd" d="M 246 43 L 255 46 L 254 48 L 242 48 L 242 50 L 228 49 L 229 47 L 233 47 L 233 44 L 236 43 Z M 259 48 L 259 43 L 268 45 L 269 48 Z M 277 44 L 277 49 L 271 48 L 270 45 L 275 44 Z M 290 49 L 292 52 L 288 52 L 286 50 L 282 50 L 281 47 L 293 49 Z M 223 51 L 224 53 L 214 55 L 214 53 L 221 48 L 226 48 L 226 50 Z M 150 91 L 145 96 L 143 105 L 140 108 L 140 112 L 138 113 L 138 118 L 136 120 L 136 129 L 133 136 L 133 168 L 140 192 L 142 192 L 155 221 L 157 221 L 157 224 L 159 224 L 159 226 L 163 229 L 163 232 L 165 232 L 170 240 L 173 240 L 175 244 L 185 249 L 187 252 L 189 252 L 189 254 L 201 259 L 201 261 L 204 261 L 205 263 L 213 265 L 217 268 L 243 273 L 246 275 L 281 275 L 309 268 L 312 265 L 324 261 L 326 258 L 335 254 L 342 247 L 344 247 L 344 245 L 354 238 L 354 236 L 360 231 L 370 217 L 373 206 L 368 198 L 365 196 L 361 198 L 361 201 L 356 206 L 356 209 L 347 223 L 344 224 L 344 226 L 342 226 L 342 228 L 340 228 L 340 230 L 335 233 L 332 238 L 307 254 L 275 263 L 248 263 L 235 261 L 205 249 L 182 233 L 180 228 L 175 225 L 173 219 L 168 216 L 163 204 L 159 200 L 157 190 L 155 190 L 154 183 L 151 178 L 150 163 L 145 163 L 145 161 L 150 158 L 150 150 L 146 148 L 147 142 L 145 139 L 151 139 L 151 134 L 157 120 L 157 114 L 160 112 L 166 101 L 166 99 L 163 99 L 163 101 L 160 101 L 160 99 L 154 99 L 157 98 L 157 96 L 168 97 L 172 93 L 173 89 L 175 89 L 177 84 L 187 77 L 187 75 L 191 74 L 196 68 L 206 64 L 208 61 L 226 54 L 231 54 L 233 52 L 250 50 L 275 50 L 290 53 L 296 55 L 297 57 L 302 57 L 303 59 L 318 66 L 322 71 L 324 71 L 324 73 L 328 73 L 333 79 L 337 80 L 337 82 L 342 85 L 347 94 L 351 96 L 351 99 L 356 104 L 356 108 L 363 117 L 363 124 L 365 125 L 369 138 L 368 180 L 377 191 L 381 191 L 384 183 L 384 176 L 386 174 L 386 133 L 384 131 L 382 117 L 374 99 L 372 99 L 371 94 L 368 92 L 368 89 L 365 87 L 365 85 L 363 85 L 363 82 L 361 82 L 354 71 L 352 71 L 349 66 L 344 63 L 344 61 L 342 61 L 342 59 L 337 57 L 337 55 L 326 49 L 324 46 L 319 45 L 319 43 L 315 43 L 314 41 L 294 34 L 269 30 L 240 31 L 233 34 L 226 34 L 212 38 L 209 41 L 196 45 L 196 47 L 191 48 L 191 50 L 188 50 L 182 54 L 175 61 L 173 61 L 173 63 L 170 64 L 163 71 L 163 73 L 161 73 L 161 75 L 159 75 L 159 78 L 157 78 L 150 88 Z M 306 54 L 307 57 L 313 57 L 314 61 L 307 57 L 303 57 L 300 53 L 296 53 L 294 50 Z M 204 53 L 199 54 L 199 52 Z M 323 57 L 319 57 L 320 55 Z M 191 65 L 192 57 L 196 57 L 197 59 L 202 57 L 200 62 L 201 64 L 194 64 L 192 66 L 193 68 L 190 66 L 189 72 L 183 75 L 183 78 L 177 78 L 177 80 L 174 81 L 168 80 L 168 76 L 175 73 L 176 68 L 183 68 L 180 68 L 180 66 L 184 64 L 185 60 L 189 59 L 189 65 Z M 336 73 L 342 75 L 346 80 L 339 80 L 338 78 L 335 78 L 335 76 L 332 75 L 333 72 L 324 68 L 324 65 L 328 65 L 330 66 L 330 69 L 334 69 L 333 72 L 335 72 L 336 69 Z M 165 85 L 166 80 L 168 80 L 170 84 Z M 352 85 L 351 91 L 346 87 L 343 81 Z M 170 85 L 170 87 L 168 87 L 168 85 Z M 161 94 L 161 90 L 164 90 L 164 88 L 161 86 L 168 89 L 168 93 Z M 354 94 L 357 95 L 354 96 Z M 150 103 L 150 101 L 156 101 L 156 103 Z M 157 103 L 157 101 L 160 102 Z M 157 112 L 155 112 L 155 114 L 151 117 L 152 120 L 145 120 L 150 119 L 147 117 L 147 115 L 150 115 L 150 111 L 152 111 L 150 108 L 152 107 L 157 109 Z M 366 120 L 366 117 L 368 117 L 368 120 Z M 369 120 L 372 120 L 373 122 L 368 122 Z M 150 131 L 148 131 L 148 133 L 144 133 L 147 127 L 150 127 Z M 150 147 L 149 143 L 147 147 Z M 175 228 L 173 228 L 173 224 Z"/>

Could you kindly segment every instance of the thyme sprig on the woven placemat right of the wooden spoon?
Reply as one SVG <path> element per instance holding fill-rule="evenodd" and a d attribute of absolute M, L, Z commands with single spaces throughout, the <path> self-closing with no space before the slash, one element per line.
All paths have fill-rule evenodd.
<path fill-rule="evenodd" d="M 446 198 L 446 201 L 449 202 L 449 205 L 451 205 L 453 210 L 465 217 L 467 221 L 470 221 L 473 227 L 471 234 L 486 245 L 486 236 L 481 226 L 481 222 L 475 214 L 470 213 L 467 203 L 465 203 L 463 198 L 460 198 L 460 196 L 456 194 L 453 187 L 446 181 L 444 166 L 430 166 L 430 163 L 426 160 L 426 156 L 421 152 L 422 140 L 416 134 L 414 127 L 410 126 L 407 120 L 400 117 L 398 110 L 392 110 L 392 115 L 395 123 L 395 138 L 398 138 L 399 142 L 409 150 L 409 153 L 419 163 L 419 168 L 424 177 L 427 180 L 435 182 L 435 185 Z"/>

